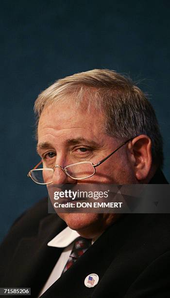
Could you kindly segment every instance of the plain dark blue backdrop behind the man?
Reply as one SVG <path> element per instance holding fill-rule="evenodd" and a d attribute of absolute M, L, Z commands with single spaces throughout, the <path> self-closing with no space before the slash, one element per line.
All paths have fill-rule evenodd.
<path fill-rule="evenodd" d="M 39 162 L 34 100 L 56 79 L 109 68 L 143 79 L 164 138 L 170 181 L 170 2 L 0 1 L 0 239 L 46 195 L 27 178 Z"/>

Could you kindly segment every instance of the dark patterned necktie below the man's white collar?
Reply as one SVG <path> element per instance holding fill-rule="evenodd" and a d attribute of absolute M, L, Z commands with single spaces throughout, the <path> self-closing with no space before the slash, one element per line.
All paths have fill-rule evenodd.
<path fill-rule="evenodd" d="M 72 264 L 85 253 L 85 251 L 88 249 L 90 245 L 91 245 L 91 239 L 85 239 L 81 236 L 76 238 L 73 249 L 66 263 L 66 266 L 63 269 L 62 274 L 65 273 L 68 270 L 68 268 L 71 267 Z"/>

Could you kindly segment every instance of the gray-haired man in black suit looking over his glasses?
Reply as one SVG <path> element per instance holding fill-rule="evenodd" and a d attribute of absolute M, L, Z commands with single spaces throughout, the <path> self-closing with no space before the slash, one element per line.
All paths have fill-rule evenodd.
<path fill-rule="evenodd" d="M 155 113 L 130 79 L 109 70 L 68 76 L 38 96 L 35 112 L 51 185 L 168 183 Z M 90 177 L 67 172 L 103 159 Z M 47 184 L 44 170 L 36 172 L 41 180 L 35 170 L 34 182 Z M 43 298 L 168 298 L 169 223 L 168 214 L 48 214 L 44 199 L 2 243 L 0 286 L 31 287 Z M 75 260 L 84 240 L 88 248 Z"/>

